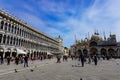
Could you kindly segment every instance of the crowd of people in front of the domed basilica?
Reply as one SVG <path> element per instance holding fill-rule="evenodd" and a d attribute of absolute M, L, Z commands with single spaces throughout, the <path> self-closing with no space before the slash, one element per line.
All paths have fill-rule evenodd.
<path fill-rule="evenodd" d="M 63 58 L 63 62 L 64 61 L 68 61 L 68 58 L 71 58 L 71 60 L 73 61 L 77 61 L 78 66 L 80 66 L 81 64 L 81 67 L 84 67 L 84 65 L 87 63 L 87 64 L 94 64 L 95 66 L 98 65 L 98 62 L 101 61 L 101 60 L 110 60 L 112 58 L 116 59 L 117 57 L 116 56 L 108 56 L 108 55 L 100 55 L 100 54 L 83 54 L 83 53 L 79 53 L 78 51 L 78 54 L 77 55 L 69 55 L 69 56 L 66 56 L 66 55 L 57 55 L 56 56 L 57 58 L 57 63 L 61 63 L 61 58 Z"/>

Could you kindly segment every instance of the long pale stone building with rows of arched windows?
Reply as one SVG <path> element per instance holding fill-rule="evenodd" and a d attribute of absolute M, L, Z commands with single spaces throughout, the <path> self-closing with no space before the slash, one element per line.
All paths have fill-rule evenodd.
<path fill-rule="evenodd" d="M 0 10 L 0 56 L 15 57 L 22 52 L 36 57 L 47 52 L 62 52 L 62 44 L 22 20 Z"/>

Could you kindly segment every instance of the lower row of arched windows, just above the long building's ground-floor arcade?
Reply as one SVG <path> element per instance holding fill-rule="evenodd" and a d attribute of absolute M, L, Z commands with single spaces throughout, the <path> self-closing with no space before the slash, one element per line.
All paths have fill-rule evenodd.
<path fill-rule="evenodd" d="M 6 36 L 3 34 L 0 34 L 0 44 L 14 45 L 14 46 L 20 46 L 20 47 L 32 48 L 32 49 L 40 49 L 40 50 L 54 49 L 53 47 L 48 47 L 45 45 L 33 43 L 27 40 L 19 39 L 17 37 Z"/>

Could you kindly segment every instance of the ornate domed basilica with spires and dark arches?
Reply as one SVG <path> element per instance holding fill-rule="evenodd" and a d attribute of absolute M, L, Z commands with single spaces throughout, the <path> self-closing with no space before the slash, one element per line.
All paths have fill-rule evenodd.
<path fill-rule="evenodd" d="M 91 38 L 85 38 L 82 41 L 77 41 L 71 46 L 71 54 L 80 53 L 102 56 L 120 56 L 120 43 L 116 40 L 116 35 L 110 34 L 108 38 L 99 36 L 99 33 L 95 32 Z"/>

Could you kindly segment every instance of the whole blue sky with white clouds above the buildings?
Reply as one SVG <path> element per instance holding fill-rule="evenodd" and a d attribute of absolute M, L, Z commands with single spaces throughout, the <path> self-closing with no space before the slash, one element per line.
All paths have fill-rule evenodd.
<path fill-rule="evenodd" d="M 120 40 L 120 0 L 0 0 L 0 9 L 70 47 L 95 30 Z"/>

